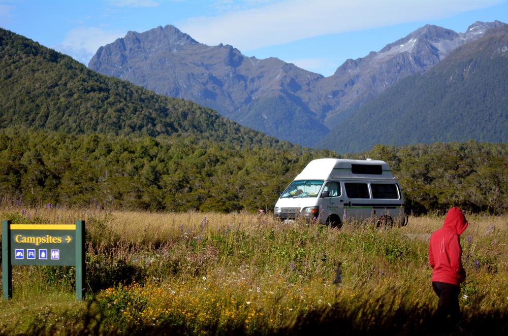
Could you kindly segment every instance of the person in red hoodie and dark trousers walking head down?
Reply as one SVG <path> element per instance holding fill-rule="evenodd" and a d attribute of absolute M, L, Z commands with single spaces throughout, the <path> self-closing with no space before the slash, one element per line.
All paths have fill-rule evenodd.
<path fill-rule="evenodd" d="M 453 321 L 460 319 L 460 284 L 466 280 L 462 267 L 462 248 L 460 234 L 467 227 L 462 211 L 455 207 L 448 211 L 443 227 L 432 233 L 429 242 L 429 263 L 432 267 L 432 289 L 439 297 L 437 315 L 446 320 L 451 315 Z"/>

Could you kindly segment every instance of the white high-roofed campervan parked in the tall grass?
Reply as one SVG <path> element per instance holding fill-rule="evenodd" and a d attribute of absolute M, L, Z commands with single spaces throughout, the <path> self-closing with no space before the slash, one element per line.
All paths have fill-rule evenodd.
<path fill-rule="evenodd" d="M 385 161 L 317 159 L 281 193 L 274 217 L 319 219 L 341 226 L 345 220 L 403 226 L 404 199 Z"/>

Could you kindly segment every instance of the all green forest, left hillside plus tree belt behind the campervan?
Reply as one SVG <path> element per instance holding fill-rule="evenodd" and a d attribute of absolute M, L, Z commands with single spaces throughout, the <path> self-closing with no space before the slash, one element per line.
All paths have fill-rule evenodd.
<path fill-rule="evenodd" d="M 506 211 L 506 144 L 383 146 L 343 156 L 242 127 L 0 29 L 3 201 L 154 211 L 271 211 L 312 159 L 387 161 L 406 211 Z"/>

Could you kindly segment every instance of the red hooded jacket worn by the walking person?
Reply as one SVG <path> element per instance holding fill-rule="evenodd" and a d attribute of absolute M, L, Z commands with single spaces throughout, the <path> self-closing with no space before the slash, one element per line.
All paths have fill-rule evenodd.
<path fill-rule="evenodd" d="M 458 285 L 466 280 L 459 238 L 466 227 L 467 221 L 464 214 L 455 207 L 448 211 L 443 227 L 430 236 L 429 263 L 433 270 L 433 282 Z"/>

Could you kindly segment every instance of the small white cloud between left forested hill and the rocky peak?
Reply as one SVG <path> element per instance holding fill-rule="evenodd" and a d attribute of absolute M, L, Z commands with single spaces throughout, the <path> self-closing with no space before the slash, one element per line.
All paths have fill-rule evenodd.
<path fill-rule="evenodd" d="M 51 48 L 88 65 L 88 62 L 97 52 L 97 49 L 114 42 L 118 38 L 124 37 L 125 34 L 125 32 L 121 31 L 83 26 L 69 31 L 63 42 Z"/>

